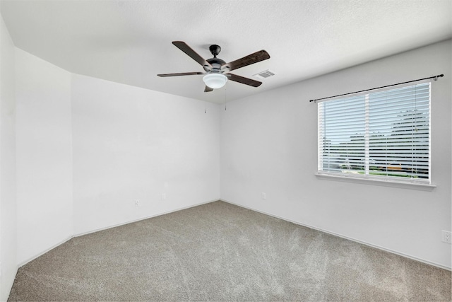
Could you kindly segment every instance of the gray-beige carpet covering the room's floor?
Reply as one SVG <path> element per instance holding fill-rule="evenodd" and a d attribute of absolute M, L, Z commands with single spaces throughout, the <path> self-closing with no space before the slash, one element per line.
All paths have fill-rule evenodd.
<path fill-rule="evenodd" d="M 213 202 L 73 238 L 8 301 L 451 301 L 451 272 Z"/>

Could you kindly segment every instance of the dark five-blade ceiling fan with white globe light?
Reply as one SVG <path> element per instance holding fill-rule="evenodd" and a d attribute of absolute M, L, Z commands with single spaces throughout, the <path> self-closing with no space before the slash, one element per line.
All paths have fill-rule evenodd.
<path fill-rule="evenodd" d="M 179 50 L 185 52 L 191 59 L 194 59 L 198 64 L 203 66 L 206 72 L 183 72 L 179 74 L 157 74 L 157 76 L 193 76 L 196 74 L 204 74 L 203 81 L 206 83 L 206 89 L 204 92 L 213 91 L 213 89 L 222 88 L 225 86 L 228 79 L 231 81 L 242 83 L 245 85 L 258 87 L 262 82 L 255 81 L 253 79 L 245 78 L 243 76 L 237 76 L 237 74 L 230 74 L 230 71 L 234 69 L 239 69 L 244 66 L 248 66 L 257 62 L 261 62 L 266 59 L 270 59 L 270 54 L 265 50 L 259 50 L 258 52 L 254 52 L 254 54 L 249 54 L 246 57 L 242 57 L 242 59 L 237 59 L 235 61 L 226 63 L 222 59 L 219 59 L 217 56 L 221 51 L 221 47 L 218 45 L 210 45 L 209 50 L 210 53 L 213 54 L 213 58 L 211 59 L 203 59 L 199 54 L 197 54 L 194 50 L 186 45 L 185 42 L 182 41 L 174 41 L 172 42 Z"/>

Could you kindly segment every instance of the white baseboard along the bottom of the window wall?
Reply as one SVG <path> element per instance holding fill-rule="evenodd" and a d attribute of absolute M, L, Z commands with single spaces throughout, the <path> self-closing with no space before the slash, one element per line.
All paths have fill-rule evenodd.
<path fill-rule="evenodd" d="M 254 208 L 251 208 L 251 207 L 245 207 L 245 206 L 243 206 L 242 204 L 236 204 L 235 202 L 230 202 L 230 201 L 225 200 L 225 199 L 220 199 L 220 201 L 222 201 L 222 202 L 227 202 L 228 204 L 234 204 L 235 206 L 242 207 L 242 208 L 244 208 L 244 209 L 249 209 L 249 210 L 251 210 L 251 211 L 256 211 L 256 212 L 258 212 L 258 213 L 265 214 L 265 215 L 268 215 L 268 216 L 272 216 L 272 217 L 275 217 L 275 218 L 278 218 L 278 219 L 282 219 L 282 220 L 284 220 L 284 221 L 289 221 L 289 222 L 295 223 L 295 224 L 297 224 L 297 225 L 299 225 L 299 226 L 305 226 L 305 227 L 307 227 L 307 228 L 312 228 L 313 230 L 321 231 L 321 232 L 323 232 L 323 233 L 327 233 L 327 234 L 330 234 L 330 235 L 333 235 L 333 236 L 337 236 L 337 237 L 344 238 L 344 239 L 347 239 L 347 240 L 350 240 L 350 241 L 354 241 L 354 242 L 356 242 L 356 243 L 361 243 L 361 244 L 367 245 L 367 246 L 369 246 L 369 247 L 371 247 L 371 248 L 377 248 L 377 249 L 379 249 L 379 250 L 384 250 L 385 252 L 391 252 L 392 254 L 396 254 L 396 255 L 399 255 L 399 256 L 402 256 L 402 257 L 405 257 L 405 258 L 409 258 L 409 259 L 412 259 L 412 260 L 416 260 L 416 261 L 425 263 L 425 264 L 427 264 L 427 265 L 432 265 L 432 266 L 434 266 L 434 267 L 439 267 L 439 268 L 441 268 L 441 269 L 446 269 L 446 270 L 448 270 L 448 271 L 451 271 L 451 270 L 452 270 L 451 267 L 446 267 L 446 266 L 444 266 L 444 265 L 440 265 L 440 264 L 435 263 L 435 262 L 431 262 L 431 261 L 428 261 L 428 260 L 420 259 L 420 258 L 418 258 L 418 257 L 412 256 L 412 255 L 408 255 L 408 254 L 405 254 L 405 253 L 403 253 L 403 252 L 398 252 L 398 251 L 396 251 L 396 250 L 391 250 L 391 249 L 388 249 L 388 248 L 383 248 L 383 247 L 381 247 L 381 246 L 379 246 L 379 245 L 374 245 L 374 244 L 372 244 L 372 243 L 367 243 L 367 242 L 362 241 L 362 240 L 357 240 L 357 239 L 355 239 L 355 238 L 343 236 L 342 234 L 339 234 L 339 233 L 334 233 L 334 232 L 331 232 L 331 231 L 323 230 L 323 229 L 321 229 L 321 228 L 316 228 L 315 226 L 310 226 L 309 224 L 306 224 L 306 223 L 301 223 L 301 222 L 299 222 L 299 221 L 292 221 L 292 220 L 290 220 L 290 219 L 287 219 L 287 218 L 284 218 L 284 217 L 280 217 L 280 216 L 277 216 L 277 215 L 274 215 L 274 214 L 270 214 L 270 213 L 267 213 L 267 212 L 265 212 L 265 211 L 261 211 L 261 210 L 254 209 Z"/>

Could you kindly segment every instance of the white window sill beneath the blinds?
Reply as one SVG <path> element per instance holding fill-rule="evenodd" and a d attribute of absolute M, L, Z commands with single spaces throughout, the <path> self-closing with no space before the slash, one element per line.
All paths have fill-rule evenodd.
<path fill-rule="evenodd" d="M 422 190 L 422 191 L 432 191 L 436 185 L 429 185 L 423 183 L 415 183 L 415 182 L 398 182 L 394 180 L 376 180 L 374 178 L 356 178 L 352 176 L 344 176 L 344 175 L 331 175 L 326 173 L 315 173 L 316 178 L 321 180 L 335 180 L 335 181 L 343 181 L 343 182 L 355 182 L 362 183 L 366 185 L 382 185 L 384 187 L 400 187 L 403 189 L 412 189 L 412 190 Z"/>

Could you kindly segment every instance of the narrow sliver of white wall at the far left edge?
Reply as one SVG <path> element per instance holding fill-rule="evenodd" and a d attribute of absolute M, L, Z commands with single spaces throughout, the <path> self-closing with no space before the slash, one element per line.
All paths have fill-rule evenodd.
<path fill-rule="evenodd" d="M 0 301 L 6 301 L 16 262 L 16 97 L 14 45 L 0 16 Z"/>

